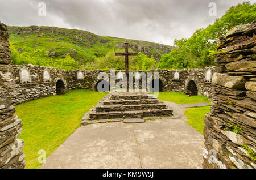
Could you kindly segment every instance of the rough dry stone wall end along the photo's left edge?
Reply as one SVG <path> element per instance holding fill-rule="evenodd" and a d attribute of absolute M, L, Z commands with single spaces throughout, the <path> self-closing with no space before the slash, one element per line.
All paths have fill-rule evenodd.
<path fill-rule="evenodd" d="M 24 141 L 16 139 L 22 132 L 22 122 L 11 105 L 15 80 L 9 49 L 9 33 L 0 22 L 0 169 L 24 168 L 26 162 L 22 152 Z"/>

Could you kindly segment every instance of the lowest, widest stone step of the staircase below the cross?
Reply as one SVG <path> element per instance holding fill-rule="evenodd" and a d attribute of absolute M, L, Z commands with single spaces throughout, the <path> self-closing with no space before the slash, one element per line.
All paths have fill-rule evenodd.
<path fill-rule="evenodd" d="M 145 109 L 145 110 L 126 110 L 126 111 L 110 111 L 96 112 L 91 110 L 88 112 L 89 120 L 96 119 L 117 119 L 117 118 L 143 118 L 152 116 L 171 116 L 172 109 Z"/>

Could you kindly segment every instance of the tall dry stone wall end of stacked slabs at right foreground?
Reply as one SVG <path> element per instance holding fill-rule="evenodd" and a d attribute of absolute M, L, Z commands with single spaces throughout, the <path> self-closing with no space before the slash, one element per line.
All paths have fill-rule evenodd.
<path fill-rule="evenodd" d="M 220 37 L 214 105 L 205 115 L 204 168 L 256 168 L 256 21 Z"/>

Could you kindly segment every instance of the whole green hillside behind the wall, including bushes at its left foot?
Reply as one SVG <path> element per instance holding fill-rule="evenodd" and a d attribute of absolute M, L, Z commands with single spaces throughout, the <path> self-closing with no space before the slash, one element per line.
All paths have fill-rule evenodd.
<path fill-rule="evenodd" d="M 86 68 L 90 67 L 97 58 L 105 57 L 108 52 L 121 51 L 125 41 L 129 41 L 132 51 L 146 54 L 148 58 L 154 57 L 156 62 L 160 60 L 162 54 L 169 53 L 172 49 L 172 46 L 168 45 L 103 37 L 77 29 L 37 26 L 8 28 L 15 64 L 32 63 L 61 67 L 61 63 L 75 63 L 67 67 Z M 60 59 L 65 61 L 60 62 Z M 73 59 L 75 62 L 72 62 Z"/>

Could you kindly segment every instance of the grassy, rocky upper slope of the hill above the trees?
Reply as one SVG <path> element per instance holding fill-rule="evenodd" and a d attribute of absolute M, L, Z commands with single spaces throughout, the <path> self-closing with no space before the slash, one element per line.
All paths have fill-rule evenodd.
<path fill-rule="evenodd" d="M 53 55 L 52 58 L 64 58 L 65 54 L 71 53 L 72 48 L 75 49 L 76 53 L 71 53 L 71 56 L 76 61 L 81 62 L 91 62 L 94 55 L 96 57 L 102 57 L 110 49 L 113 49 L 115 45 L 122 45 L 124 41 L 127 41 L 123 38 L 103 37 L 76 29 L 36 26 L 8 28 L 10 42 L 16 48 L 44 48 L 48 51 L 52 50 L 56 52 L 56 55 Z M 128 41 L 131 45 L 148 48 L 147 52 L 152 55 L 164 54 L 164 51 L 172 48 L 172 46 L 147 41 Z"/>

